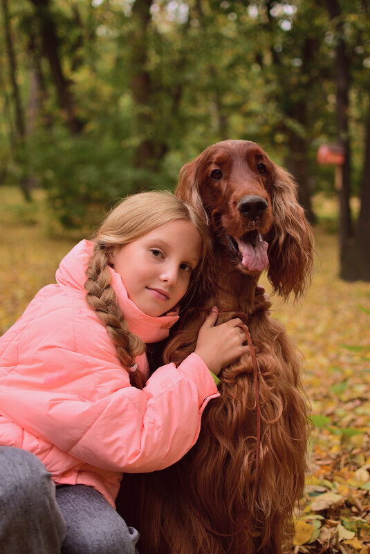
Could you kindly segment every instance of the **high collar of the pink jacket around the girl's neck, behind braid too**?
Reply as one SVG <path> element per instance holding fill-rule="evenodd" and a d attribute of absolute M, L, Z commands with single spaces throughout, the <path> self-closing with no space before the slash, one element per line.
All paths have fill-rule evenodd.
<path fill-rule="evenodd" d="M 68 252 L 60 262 L 55 274 L 59 285 L 72 287 L 86 293 L 84 289 L 86 267 L 93 253 L 93 248 L 93 242 L 83 240 L 71 252 Z M 160 317 L 147 315 L 129 299 L 120 275 L 115 273 L 113 268 L 109 268 L 109 270 L 112 277 L 111 285 L 131 333 L 135 333 L 146 343 L 159 342 L 167 338 L 170 327 L 178 320 L 178 310 L 176 310 L 176 307 L 171 312 Z"/>

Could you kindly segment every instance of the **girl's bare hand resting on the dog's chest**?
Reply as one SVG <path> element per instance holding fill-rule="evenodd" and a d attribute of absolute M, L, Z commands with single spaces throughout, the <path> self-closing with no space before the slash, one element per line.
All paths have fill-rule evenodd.
<path fill-rule="evenodd" d="M 202 358 L 214 375 L 218 375 L 221 369 L 235 358 L 249 352 L 249 347 L 243 346 L 246 334 L 238 327 L 242 321 L 236 317 L 215 327 L 217 315 L 218 310 L 214 306 L 199 329 L 195 348 L 195 353 Z"/>

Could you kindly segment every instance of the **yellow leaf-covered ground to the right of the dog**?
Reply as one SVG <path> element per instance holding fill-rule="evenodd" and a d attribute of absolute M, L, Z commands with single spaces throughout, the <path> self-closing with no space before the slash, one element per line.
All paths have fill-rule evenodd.
<path fill-rule="evenodd" d="M 306 297 L 297 306 L 272 298 L 274 317 L 304 353 L 315 426 L 310 474 L 286 552 L 369 554 L 370 285 L 337 279 L 335 236 L 317 227 L 315 240 Z"/>

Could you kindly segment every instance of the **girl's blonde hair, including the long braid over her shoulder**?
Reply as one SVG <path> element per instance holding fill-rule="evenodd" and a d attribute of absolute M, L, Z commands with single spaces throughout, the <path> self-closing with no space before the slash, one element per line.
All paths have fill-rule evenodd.
<path fill-rule="evenodd" d="M 86 302 L 98 314 L 115 344 L 120 364 L 129 373 L 131 385 L 142 388 L 145 378 L 142 373 L 130 371 L 135 357 L 145 351 L 142 340 L 129 331 L 113 287 L 109 261 L 115 248 L 135 241 L 160 225 L 176 219 L 191 221 L 201 236 L 201 257 L 192 272 L 185 302 L 194 294 L 196 286 L 205 288 L 203 266 L 210 252 L 210 236 L 207 223 L 194 207 L 170 192 L 141 192 L 124 198 L 104 219 L 95 236 L 94 250 L 86 269 Z"/>

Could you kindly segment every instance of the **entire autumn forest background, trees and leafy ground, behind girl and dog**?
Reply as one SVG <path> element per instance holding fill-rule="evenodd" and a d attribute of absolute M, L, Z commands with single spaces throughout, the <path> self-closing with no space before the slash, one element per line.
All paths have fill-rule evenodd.
<path fill-rule="evenodd" d="M 287 548 L 368 553 L 369 0 L 0 5 L 0 333 L 118 198 L 173 190 L 213 142 L 259 142 L 295 176 L 317 250 L 306 299 L 272 299 L 315 425 Z M 323 144 L 342 163 L 317 163 Z"/>

